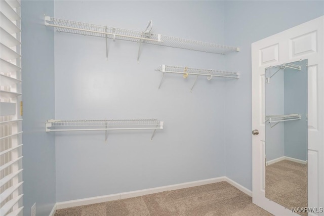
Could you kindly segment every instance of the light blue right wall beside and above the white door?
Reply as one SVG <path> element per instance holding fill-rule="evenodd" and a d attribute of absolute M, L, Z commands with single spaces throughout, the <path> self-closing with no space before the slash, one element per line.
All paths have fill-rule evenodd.
<path fill-rule="evenodd" d="M 225 44 L 241 51 L 226 56 L 226 69 L 241 71 L 226 85 L 226 176 L 252 190 L 251 44 L 324 15 L 322 1 L 226 1 Z"/>

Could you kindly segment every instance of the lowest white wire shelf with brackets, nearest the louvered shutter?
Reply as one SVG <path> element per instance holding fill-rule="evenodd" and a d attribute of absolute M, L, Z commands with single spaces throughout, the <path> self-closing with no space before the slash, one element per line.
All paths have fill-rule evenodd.
<path fill-rule="evenodd" d="M 107 131 L 111 130 L 138 130 L 152 129 L 153 140 L 156 129 L 163 129 L 164 121 L 156 119 L 130 119 L 130 120 L 57 120 L 50 119 L 45 122 L 46 132 L 68 132 L 68 131 L 105 131 L 107 142 Z"/>

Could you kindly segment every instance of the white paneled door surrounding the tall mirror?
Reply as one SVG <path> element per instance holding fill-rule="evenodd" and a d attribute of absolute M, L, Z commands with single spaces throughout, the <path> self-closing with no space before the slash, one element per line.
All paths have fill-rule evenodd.
<path fill-rule="evenodd" d="M 253 203 L 297 215 L 265 197 L 265 68 L 308 59 L 308 215 L 324 215 L 324 16 L 252 44 Z"/>

